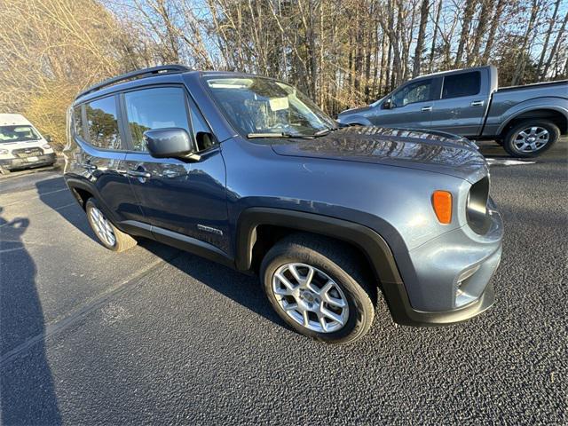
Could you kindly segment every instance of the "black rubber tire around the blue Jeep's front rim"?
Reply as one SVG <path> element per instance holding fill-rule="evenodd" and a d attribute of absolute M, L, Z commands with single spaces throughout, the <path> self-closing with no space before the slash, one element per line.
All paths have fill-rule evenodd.
<path fill-rule="evenodd" d="M 282 239 L 266 253 L 260 279 L 274 310 L 298 333 L 325 343 L 351 343 L 367 333 L 375 317 L 376 287 L 367 284 L 373 279 L 367 276 L 362 260 L 340 241 L 297 233 Z M 272 278 L 275 272 L 290 263 L 308 264 L 324 272 L 341 288 L 348 305 L 343 327 L 331 332 L 317 332 L 288 316 L 272 290 Z M 320 303 L 324 306 L 323 297 Z"/>

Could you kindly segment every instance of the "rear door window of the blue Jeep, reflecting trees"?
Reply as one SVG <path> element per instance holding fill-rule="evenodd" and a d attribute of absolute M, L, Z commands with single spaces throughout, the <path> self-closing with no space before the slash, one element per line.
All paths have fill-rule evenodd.
<path fill-rule="evenodd" d="M 114 96 L 93 100 L 85 107 L 91 145 L 105 149 L 121 149 Z"/>

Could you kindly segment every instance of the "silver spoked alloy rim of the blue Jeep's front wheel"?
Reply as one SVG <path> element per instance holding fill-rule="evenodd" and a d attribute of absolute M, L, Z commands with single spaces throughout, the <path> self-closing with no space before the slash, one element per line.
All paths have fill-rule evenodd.
<path fill-rule="evenodd" d="M 326 272 L 309 264 L 281 265 L 272 275 L 272 294 L 289 318 L 318 333 L 338 331 L 349 318 L 343 290 Z"/>

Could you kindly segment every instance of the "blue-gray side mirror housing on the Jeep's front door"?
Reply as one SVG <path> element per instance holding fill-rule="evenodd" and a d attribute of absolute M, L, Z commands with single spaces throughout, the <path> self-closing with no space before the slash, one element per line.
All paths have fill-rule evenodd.
<path fill-rule="evenodd" d="M 192 139 L 185 129 L 170 127 L 146 130 L 144 141 L 155 158 L 193 158 Z"/>

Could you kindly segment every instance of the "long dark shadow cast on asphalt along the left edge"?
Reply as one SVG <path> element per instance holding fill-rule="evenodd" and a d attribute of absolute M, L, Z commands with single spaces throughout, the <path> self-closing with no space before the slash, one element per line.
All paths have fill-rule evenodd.
<path fill-rule="evenodd" d="M 1 214 L 0 207 L 0 419 L 3 424 L 59 424 L 36 264 L 22 241 L 29 219 L 7 221 Z"/>

